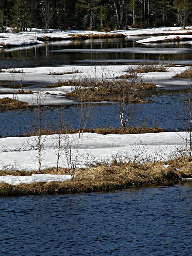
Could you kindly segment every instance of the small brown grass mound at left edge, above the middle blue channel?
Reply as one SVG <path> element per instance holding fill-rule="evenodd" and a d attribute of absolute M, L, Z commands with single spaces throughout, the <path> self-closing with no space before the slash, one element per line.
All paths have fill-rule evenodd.
<path fill-rule="evenodd" d="M 0 99 L 0 109 L 20 109 L 28 108 L 28 106 L 28 103 L 24 101 L 14 100 L 8 97 Z"/>

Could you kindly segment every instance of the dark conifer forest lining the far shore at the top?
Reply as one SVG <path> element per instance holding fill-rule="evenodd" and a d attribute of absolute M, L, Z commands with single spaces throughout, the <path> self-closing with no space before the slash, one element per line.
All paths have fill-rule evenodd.
<path fill-rule="evenodd" d="M 0 0 L 0 31 L 192 25 L 191 0 Z"/>

